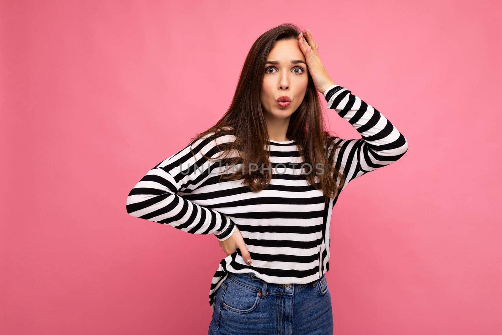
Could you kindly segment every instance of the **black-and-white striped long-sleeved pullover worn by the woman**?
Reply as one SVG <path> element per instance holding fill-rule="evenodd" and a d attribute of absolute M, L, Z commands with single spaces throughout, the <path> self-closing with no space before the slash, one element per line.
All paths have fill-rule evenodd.
<path fill-rule="evenodd" d="M 397 161 L 408 150 L 398 129 L 348 89 L 334 84 L 324 98 L 327 107 L 362 136 L 331 137 L 331 148 L 337 147 L 333 164 L 345 178 L 340 192 L 351 180 Z M 212 310 L 216 290 L 228 272 L 250 272 L 278 284 L 305 284 L 326 273 L 331 213 L 340 194 L 325 203 L 322 191 L 308 184 L 295 140 L 268 141 L 273 169 L 267 188 L 253 192 L 240 180 L 219 182 L 223 168 L 202 153 L 217 157 L 221 152 L 215 146 L 234 139 L 233 135 L 200 139 L 192 147 L 195 157 L 186 146 L 149 170 L 127 197 L 129 214 L 187 233 L 214 234 L 224 241 L 238 227 L 252 264 L 245 263 L 239 249 L 221 260 L 209 290 Z"/>

